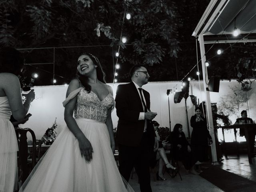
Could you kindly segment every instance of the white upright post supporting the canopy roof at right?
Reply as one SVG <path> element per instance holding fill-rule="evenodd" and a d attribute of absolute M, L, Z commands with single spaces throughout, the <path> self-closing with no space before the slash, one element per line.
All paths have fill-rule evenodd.
<path fill-rule="evenodd" d="M 206 82 L 208 83 L 209 80 L 208 80 L 207 68 L 205 67 L 206 57 L 205 57 L 205 49 L 204 49 L 204 36 L 200 34 L 198 40 L 200 44 L 204 93 L 206 95 L 206 110 L 207 110 L 208 126 L 209 126 L 209 132 L 210 132 L 210 135 L 212 136 L 212 141 L 213 141 L 213 144 L 211 145 L 212 164 L 218 165 L 219 163 L 218 163 L 218 158 L 216 153 L 216 144 L 215 144 L 216 141 L 214 136 L 214 126 L 213 126 L 213 120 L 212 120 L 212 106 L 211 106 L 211 100 L 210 100 L 210 92 L 206 90 L 206 88 L 208 88 L 208 85 L 206 85 Z"/>

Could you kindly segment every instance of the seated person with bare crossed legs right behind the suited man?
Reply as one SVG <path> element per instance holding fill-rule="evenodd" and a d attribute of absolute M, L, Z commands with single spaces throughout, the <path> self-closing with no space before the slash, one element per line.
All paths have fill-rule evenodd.
<path fill-rule="evenodd" d="M 159 127 L 159 123 L 156 121 L 152 121 L 152 124 L 153 124 L 154 130 L 156 132 L 157 128 Z M 160 137 L 157 132 L 156 132 L 156 139 L 158 140 L 158 146 L 154 149 L 154 151 L 156 153 L 155 162 L 158 161 L 158 172 L 156 173 L 156 179 L 159 180 L 159 178 L 160 178 L 161 180 L 166 180 L 166 178 L 164 178 L 164 175 L 163 175 L 164 164 L 167 169 L 175 170 L 176 167 L 172 166 L 166 157 L 164 146 L 167 144 L 167 142 L 165 140 L 160 141 Z"/>

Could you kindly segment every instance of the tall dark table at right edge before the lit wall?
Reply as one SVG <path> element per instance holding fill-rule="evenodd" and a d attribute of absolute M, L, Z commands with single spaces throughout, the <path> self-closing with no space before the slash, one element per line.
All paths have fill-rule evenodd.
<path fill-rule="evenodd" d="M 229 126 L 221 126 L 222 128 L 222 134 L 223 134 L 223 144 L 224 144 L 224 148 L 225 148 L 225 137 L 224 137 L 224 129 L 234 129 L 234 133 L 235 133 L 235 140 L 236 140 L 236 129 L 237 128 L 244 128 L 244 132 L 245 132 L 245 136 L 248 138 L 248 130 L 249 129 L 256 129 L 256 124 L 235 124 L 235 125 L 229 125 Z M 236 140 L 236 144 L 237 144 L 237 156 L 239 157 L 239 145 L 238 142 Z M 252 164 L 252 154 L 250 153 L 250 144 L 249 141 L 246 140 L 246 146 L 247 146 L 247 153 L 248 153 L 248 160 L 249 163 Z M 227 158 L 226 152 L 224 150 L 225 153 L 225 157 Z"/>

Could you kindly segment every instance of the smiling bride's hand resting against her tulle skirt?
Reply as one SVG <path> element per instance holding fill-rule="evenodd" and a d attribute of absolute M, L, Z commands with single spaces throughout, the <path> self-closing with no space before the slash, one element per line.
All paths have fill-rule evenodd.
<path fill-rule="evenodd" d="M 85 136 L 78 138 L 78 143 L 82 157 L 85 157 L 86 163 L 90 163 L 93 153 L 92 144 Z"/>

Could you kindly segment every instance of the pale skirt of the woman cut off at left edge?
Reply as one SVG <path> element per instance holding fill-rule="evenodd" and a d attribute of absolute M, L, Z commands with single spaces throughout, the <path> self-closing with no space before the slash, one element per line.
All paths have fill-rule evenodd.
<path fill-rule="evenodd" d="M 0 118 L 0 192 L 17 188 L 18 142 L 12 123 Z"/>

